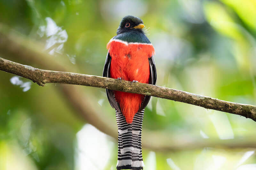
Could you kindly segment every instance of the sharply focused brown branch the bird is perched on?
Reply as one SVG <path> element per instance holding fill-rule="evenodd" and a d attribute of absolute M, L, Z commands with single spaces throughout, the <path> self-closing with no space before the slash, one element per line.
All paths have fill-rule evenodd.
<path fill-rule="evenodd" d="M 70 72 L 41 70 L 28 65 L 22 65 L 3 58 L 0 58 L 0 70 L 28 78 L 38 85 L 44 86 L 46 83 L 62 83 L 73 85 L 85 85 L 105 88 L 110 90 L 131 92 L 143 95 L 150 95 L 164 99 L 180 101 L 207 109 L 218 110 L 231 114 L 241 115 L 256 121 L 256 106 L 233 103 L 218 100 L 211 97 L 197 95 L 171 88 L 144 83 L 131 83 L 113 78 L 77 74 Z"/>

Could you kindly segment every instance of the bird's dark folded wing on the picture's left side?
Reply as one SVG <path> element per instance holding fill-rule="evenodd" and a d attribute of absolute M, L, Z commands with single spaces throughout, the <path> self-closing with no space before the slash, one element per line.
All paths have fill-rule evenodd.
<path fill-rule="evenodd" d="M 110 64 L 111 64 L 111 56 L 108 52 L 106 61 L 105 61 L 105 65 L 104 65 L 104 69 L 103 69 L 103 77 L 110 77 L 110 72 L 109 72 Z M 110 105 L 113 108 L 115 108 L 118 112 L 121 112 L 121 109 L 120 109 L 118 103 L 116 102 L 113 90 L 106 89 L 106 93 L 107 93 L 108 101 L 109 101 Z"/>

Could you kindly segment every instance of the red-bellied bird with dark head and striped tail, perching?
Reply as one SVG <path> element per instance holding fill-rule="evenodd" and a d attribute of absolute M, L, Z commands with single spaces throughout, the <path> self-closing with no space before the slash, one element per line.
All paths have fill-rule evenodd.
<path fill-rule="evenodd" d="M 143 21 L 135 16 L 122 18 L 107 44 L 103 77 L 156 84 L 155 49 L 144 33 Z M 150 96 L 106 89 L 108 101 L 116 110 L 118 155 L 116 169 L 141 170 L 145 166 L 141 151 L 144 109 Z"/>

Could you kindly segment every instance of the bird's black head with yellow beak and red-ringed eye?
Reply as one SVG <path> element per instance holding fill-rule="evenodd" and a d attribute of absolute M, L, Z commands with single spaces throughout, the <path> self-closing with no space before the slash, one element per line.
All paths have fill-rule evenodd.
<path fill-rule="evenodd" d="M 131 30 L 143 32 L 142 28 L 144 27 L 145 26 L 143 24 L 143 21 L 140 18 L 127 15 L 121 20 L 120 25 L 117 28 L 116 34 L 129 32 Z"/>

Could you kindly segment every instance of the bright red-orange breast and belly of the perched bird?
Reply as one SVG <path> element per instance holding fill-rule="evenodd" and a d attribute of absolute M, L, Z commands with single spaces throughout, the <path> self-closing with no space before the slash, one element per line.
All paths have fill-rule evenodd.
<path fill-rule="evenodd" d="M 110 77 L 122 80 L 137 80 L 140 83 L 149 82 L 148 58 L 154 53 L 154 47 L 149 44 L 124 44 L 111 41 L 107 48 L 111 56 Z M 133 116 L 139 110 L 144 95 L 115 91 L 116 101 L 127 123 L 132 123 Z"/>

